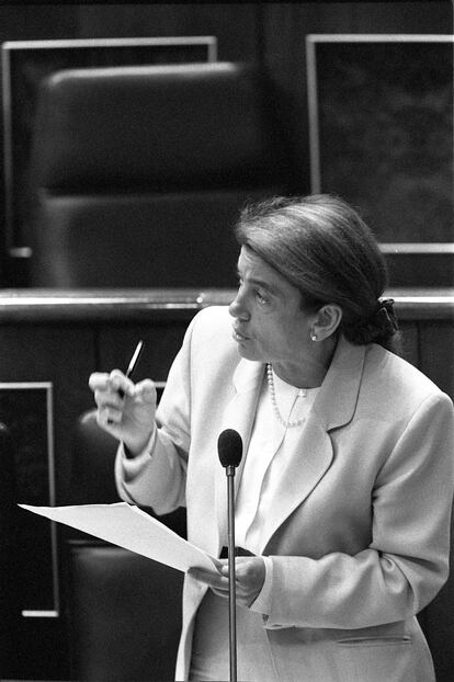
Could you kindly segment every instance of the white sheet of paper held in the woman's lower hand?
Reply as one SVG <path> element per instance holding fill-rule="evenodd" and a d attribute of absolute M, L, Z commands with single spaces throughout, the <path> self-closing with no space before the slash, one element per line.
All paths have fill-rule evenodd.
<path fill-rule="evenodd" d="M 217 559 L 205 554 L 203 549 L 183 539 L 141 509 L 126 502 L 70 507 L 19 504 L 19 507 L 184 572 L 195 567 L 214 570 L 217 564 Z"/>

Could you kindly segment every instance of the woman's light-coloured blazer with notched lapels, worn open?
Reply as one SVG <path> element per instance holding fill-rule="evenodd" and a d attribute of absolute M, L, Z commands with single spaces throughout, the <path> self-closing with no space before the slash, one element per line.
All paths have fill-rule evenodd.
<path fill-rule="evenodd" d="M 247 452 L 263 375 L 238 354 L 227 309 L 203 310 L 169 373 L 149 447 L 134 459 L 118 451 L 123 499 L 158 514 L 186 505 L 188 538 L 213 556 L 227 526 L 217 439 L 235 429 Z M 263 627 L 282 682 L 434 679 L 415 615 L 449 573 L 453 443 L 452 402 L 429 378 L 378 345 L 340 339 L 265 521 L 273 577 Z M 241 466 L 237 486 L 240 477 Z M 205 591 L 185 577 L 177 680 L 188 679 Z"/>

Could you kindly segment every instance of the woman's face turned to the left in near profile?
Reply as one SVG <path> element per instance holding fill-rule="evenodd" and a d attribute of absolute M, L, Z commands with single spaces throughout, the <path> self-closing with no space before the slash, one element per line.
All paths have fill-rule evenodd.
<path fill-rule="evenodd" d="M 306 362 L 314 352 L 310 328 L 317 314 L 302 310 L 299 291 L 245 247 L 238 276 L 238 294 L 229 312 L 242 357 L 288 368 Z"/>

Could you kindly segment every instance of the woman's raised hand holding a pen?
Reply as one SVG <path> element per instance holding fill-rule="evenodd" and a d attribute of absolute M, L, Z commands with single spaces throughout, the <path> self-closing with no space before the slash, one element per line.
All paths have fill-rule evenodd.
<path fill-rule="evenodd" d="M 120 370 L 94 372 L 89 386 L 98 406 L 98 423 L 136 455 L 155 428 L 156 387 L 151 379 L 134 384 Z"/>

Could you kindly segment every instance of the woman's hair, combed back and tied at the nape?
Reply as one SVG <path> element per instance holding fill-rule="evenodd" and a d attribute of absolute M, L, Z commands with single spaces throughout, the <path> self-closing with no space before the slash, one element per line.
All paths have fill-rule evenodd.
<path fill-rule="evenodd" d="M 387 269 L 359 213 L 331 194 L 274 196 L 248 204 L 236 225 L 240 246 L 252 249 L 302 293 L 305 309 L 342 308 L 340 331 L 352 343 L 374 341 L 397 350 L 397 321 L 379 300 Z"/>

